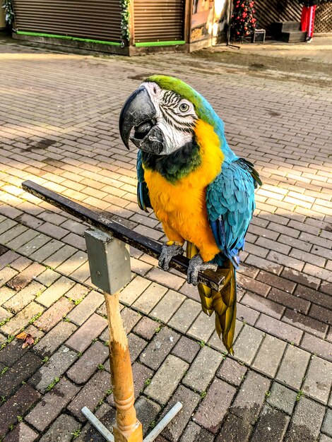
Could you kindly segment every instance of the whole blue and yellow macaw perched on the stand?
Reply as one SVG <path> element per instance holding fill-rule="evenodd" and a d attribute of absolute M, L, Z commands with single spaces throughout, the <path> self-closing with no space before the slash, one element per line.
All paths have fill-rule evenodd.
<path fill-rule="evenodd" d="M 150 76 L 126 100 L 120 134 L 138 148 L 138 205 L 153 208 L 169 241 L 159 265 L 173 256 L 190 258 L 187 281 L 198 284 L 203 311 L 215 311 L 215 327 L 232 350 L 236 318 L 239 251 L 255 208 L 254 189 L 261 185 L 251 162 L 227 144 L 223 121 L 211 104 L 182 80 Z M 225 271 L 216 292 L 198 283 L 198 272 Z"/>

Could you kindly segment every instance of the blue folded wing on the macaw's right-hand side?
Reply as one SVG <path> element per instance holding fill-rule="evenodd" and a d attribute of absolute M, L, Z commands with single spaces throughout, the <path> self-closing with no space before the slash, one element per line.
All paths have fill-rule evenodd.
<path fill-rule="evenodd" d="M 254 165 L 240 158 L 225 162 L 206 191 L 208 217 L 216 244 L 235 268 L 239 265 L 238 254 L 244 248 L 244 237 L 255 209 L 254 189 L 258 185 L 261 180 Z"/>

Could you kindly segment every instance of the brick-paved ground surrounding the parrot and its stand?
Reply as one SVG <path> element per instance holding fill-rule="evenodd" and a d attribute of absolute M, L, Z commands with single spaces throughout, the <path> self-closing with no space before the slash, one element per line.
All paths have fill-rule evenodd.
<path fill-rule="evenodd" d="M 136 153 L 117 129 L 129 92 L 162 71 L 211 101 L 264 184 L 238 275 L 235 357 L 196 289 L 131 250 L 121 315 L 144 431 L 181 400 L 159 442 L 331 442 L 327 84 L 189 55 L 104 59 L 0 44 L 0 60 L 0 440 L 101 441 L 83 405 L 107 425 L 114 419 L 105 304 L 90 282 L 85 225 L 20 184 L 32 179 L 162 239 L 158 220 L 136 205 Z M 35 338 L 25 350 L 15 339 L 23 329 Z"/>

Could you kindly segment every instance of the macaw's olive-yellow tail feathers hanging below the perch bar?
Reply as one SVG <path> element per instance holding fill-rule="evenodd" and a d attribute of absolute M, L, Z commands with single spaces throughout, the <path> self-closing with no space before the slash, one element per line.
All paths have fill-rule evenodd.
<path fill-rule="evenodd" d="M 194 244 L 188 242 L 186 246 L 187 258 L 192 258 L 199 253 Z M 216 292 L 206 285 L 198 284 L 198 292 L 201 297 L 202 310 L 208 316 L 215 311 L 215 330 L 223 339 L 228 352 L 234 354 L 233 340 L 235 334 L 235 320 L 237 316 L 237 287 L 235 279 L 235 268 L 228 261 L 228 268 L 225 268 L 225 282 L 223 288 Z"/>

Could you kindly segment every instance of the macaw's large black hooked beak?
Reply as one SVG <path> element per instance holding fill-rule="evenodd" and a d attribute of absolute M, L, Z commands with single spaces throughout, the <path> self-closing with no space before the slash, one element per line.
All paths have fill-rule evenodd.
<path fill-rule="evenodd" d="M 162 153 L 165 139 L 157 126 L 156 110 L 144 86 L 135 90 L 124 103 L 119 117 L 119 129 L 127 149 L 131 140 L 138 149 L 145 152 L 157 155 Z"/>

